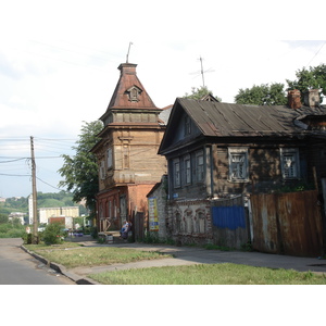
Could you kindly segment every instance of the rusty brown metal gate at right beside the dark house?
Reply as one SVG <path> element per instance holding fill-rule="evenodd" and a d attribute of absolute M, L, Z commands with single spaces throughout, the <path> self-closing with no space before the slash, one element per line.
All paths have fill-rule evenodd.
<path fill-rule="evenodd" d="M 271 253 L 317 256 L 323 250 L 318 192 L 252 195 L 252 247 Z"/>

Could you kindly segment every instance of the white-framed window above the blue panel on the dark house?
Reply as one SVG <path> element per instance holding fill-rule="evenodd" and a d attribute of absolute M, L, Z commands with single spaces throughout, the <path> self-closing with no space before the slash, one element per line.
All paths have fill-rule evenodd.
<path fill-rule="evenodd" d="M 234 183 L 249 181 L 248 147 L 228 148 L 228 179 Z"/>

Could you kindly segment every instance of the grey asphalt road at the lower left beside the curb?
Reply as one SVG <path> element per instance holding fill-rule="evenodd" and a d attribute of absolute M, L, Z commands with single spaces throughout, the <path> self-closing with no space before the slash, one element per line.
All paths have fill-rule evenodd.
<path fill-rule="evenodd" d="M 75 285 L 20 246 L 22 239 L 0 239 L 0 285 Z"/>

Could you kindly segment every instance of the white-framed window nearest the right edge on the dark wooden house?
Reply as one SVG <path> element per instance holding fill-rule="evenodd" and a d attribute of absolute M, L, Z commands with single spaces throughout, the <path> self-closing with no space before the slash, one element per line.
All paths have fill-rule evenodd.
<path fill-rule="evenodd" d="M 284 179 L 300 178 L 300 160 L 298 148 L 280 148 L 280 168 Z"/>

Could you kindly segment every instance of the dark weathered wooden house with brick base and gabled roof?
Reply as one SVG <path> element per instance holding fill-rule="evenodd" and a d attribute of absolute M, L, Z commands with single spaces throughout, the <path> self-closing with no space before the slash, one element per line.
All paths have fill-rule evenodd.
<path fill-rule="evenodd" d="M 302 185 L 325 197 L 325 126 L 317 90 L 304 105 L 293 91 L 285 106 L 176 99 L 159 149 L 168 166 L 171 236 L 212 242 L 212 205 L 223 199 Z"/>

